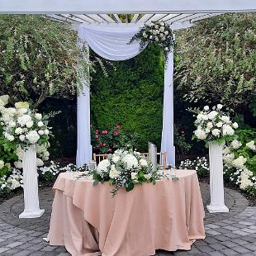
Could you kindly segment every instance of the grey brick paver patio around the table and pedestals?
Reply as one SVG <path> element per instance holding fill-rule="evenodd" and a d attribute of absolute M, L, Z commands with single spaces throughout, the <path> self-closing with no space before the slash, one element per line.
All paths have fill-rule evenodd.
<path fill-rule="evenodd" d="M 201 183 L 204 205 L 210 201 L 209 186 Z M 53 200 L 51 189 L 40 192 L 40 206 L 45 214 L 39 219 L 19 220 L 23 209 L 22 196 L 13 197 L 0 205 L 0 255 L 70 255 L 63 246 L 50 246 L 47 235 Z M 156 255 L 256 255 L 256 207 L 239 192 L 225 189 L 229 213 L 210 214 L 206 211 L 206 239 L 197 240 L 190 251 L 174 253 L 158 251 Z M 114 255 L 113 255 L 114 256 Z"/>

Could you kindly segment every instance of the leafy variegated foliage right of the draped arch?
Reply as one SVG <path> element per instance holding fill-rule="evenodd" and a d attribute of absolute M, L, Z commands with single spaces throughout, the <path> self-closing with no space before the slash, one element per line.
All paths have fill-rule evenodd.
<path fill-rule="evenodd" d="M 255 46 L 255 14 L 225 14 L 178 32 L 176 83 L 183 97 L 244 109 L 256 91 Z"/>

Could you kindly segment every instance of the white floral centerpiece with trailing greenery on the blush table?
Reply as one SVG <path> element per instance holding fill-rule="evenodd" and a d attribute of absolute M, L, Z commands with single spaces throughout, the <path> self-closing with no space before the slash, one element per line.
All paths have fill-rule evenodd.
<path fill-rule="evenodd" d="M 102 160 L 95 170 L 88 171 L 92 175 L 94 185 L 97 183 L 109 183 L 115 187 L 111 190 L 114 197 L 121 187 L 131 191 L 135 184 L 156 183 L 163 174 L 154 171 L 151 162 L 140 152 L 118 149 L 114 154 L 109 154 Z"/>

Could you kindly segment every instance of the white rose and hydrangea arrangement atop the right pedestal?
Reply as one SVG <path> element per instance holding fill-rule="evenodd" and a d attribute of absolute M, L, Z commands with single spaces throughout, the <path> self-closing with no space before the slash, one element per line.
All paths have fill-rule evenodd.
<path fill-rule="evenodd" d="M 222 105 L 210 107 L 205 106 L 203 111 L 197 111 L 197 120 L 194 131 L 194 137 L 197 140 L 205 140 L 206 142 L 214 141 L 221 144 L 235 137 L 235 130 L 238 128 L 236 122 L 232 123 L 229 114 L 222 111 Z"/>

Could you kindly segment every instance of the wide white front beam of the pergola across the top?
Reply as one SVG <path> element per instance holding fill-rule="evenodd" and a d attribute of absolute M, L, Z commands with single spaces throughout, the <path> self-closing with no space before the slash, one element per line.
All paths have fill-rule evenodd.
<path fill-rule="evenodd" d="M 224 13 L 256 12 L 255 0 L 0 0 L 2 13 Z"/>

